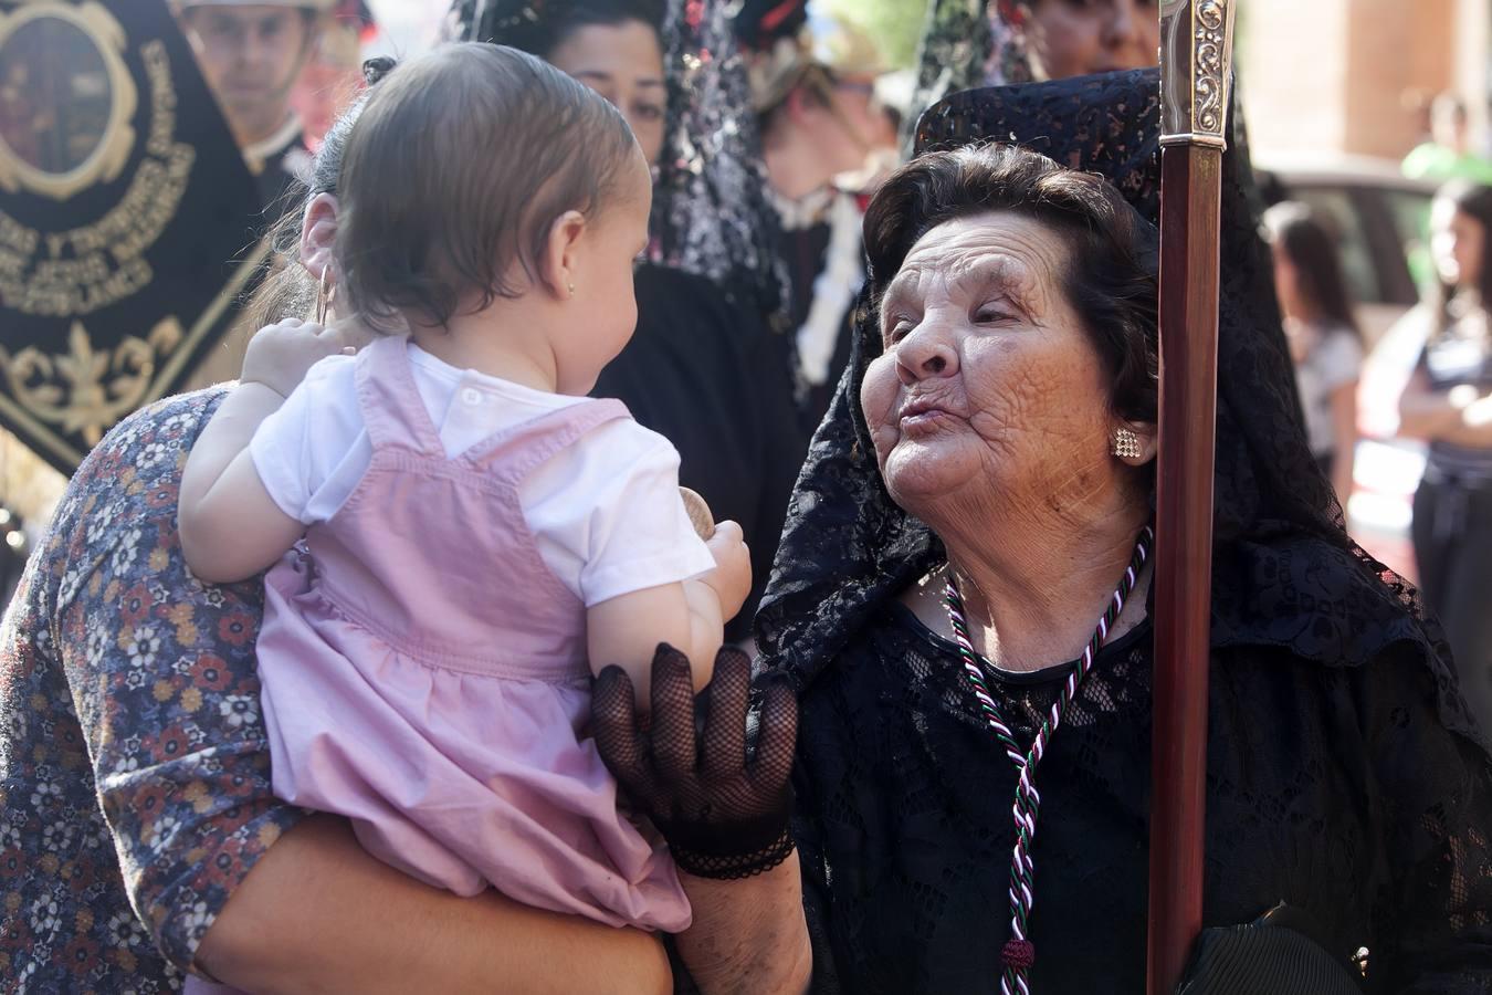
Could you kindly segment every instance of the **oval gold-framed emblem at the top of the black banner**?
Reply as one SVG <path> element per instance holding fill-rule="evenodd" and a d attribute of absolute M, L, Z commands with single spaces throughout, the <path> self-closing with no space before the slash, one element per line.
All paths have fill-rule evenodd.
<path fill-rule="evenodd" d="M 63 107 L 63 100 L 54 106 L 28 103 L 34 95 L 28 90 L 34 88 L 30 75 L 39 66 L 37 61 L 28 61 L 27 55 L 40 52 L 39 39 L 48 31 L 54 40 L 69 33 L 81 36 L 72 39 L 75 43 L 72 54 L 78 55 L 76 43 L 84 42 L 90 46 L 90 51 L 82 52 L 84 61 L 97 61 L 97 69 L 103 75 L 98 79 L 98 73 L 91 72 L 93 66 L 72 66 L 75 72 L 66 78 L 67 98 L 76 107 L 82 107 L 76 113 L 73 107 Z M 27 37 L 16 40 L 22 33 Z M 0 115 L 10 124 L 9 128 L 0 130 L 0 189 L 67 200 L 95 183 L 118 179 L 134 148 L 134 128 L 130 121 L 139 101 L 134 79 L 124 64 L 125 43 L 124 28 L 103 4 L 94 0 L 82 6 L 39 0 L 24 4 L 13 13 L 0 13 L 0 66 L 4 67 L 4 75 L 0 78 L 0 98 L 7 112 L 30 110 L 24 118 L 12 113 Z M 46 55 L 58 57 L 52 51 Z M 101 128 L 76 131 L 64 127 L 70 118 L 88 118 L 90 113 L 103 110 L 104 104 L 107 109 Z M 12 142 L 18 142 L 21 148 L 12 148 Z M 31 152 L 30 157 L 27 151 Z"/>

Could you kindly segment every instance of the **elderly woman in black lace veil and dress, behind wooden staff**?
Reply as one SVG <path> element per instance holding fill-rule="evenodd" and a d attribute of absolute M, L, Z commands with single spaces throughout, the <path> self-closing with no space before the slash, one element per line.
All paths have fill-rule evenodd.
<path fill-rule="evenodd" d="M 1155 76 L 1103 87 L 1150 110 L 1110 131 L 1091 88 L 1028 87 L 924 128 L 1046 136 L 1153 209 Z M 1022 100 L 1040 113 L 1006 113 Z M 1373 991 L 1489 991 L 1488 753 L 1413 592 L 1341 531 L 1234 163 L 1225 182 L 1206 923 L 1285 903 L 1343 991 L 1364 947 Z M 1092 173 L 983 145 L 895 173 L 865 242 L 871 310 L 758 616 L 801 689 L 801 879 L 747 867 L 721 886 L 737 941 L 680 952 L 716 991 L 801 983 L 806 949 L 825 992 L 1144 991 L 1153 228 Z M 615 680 L 598 737 L 667 834 L 694 726 L 655 703 L 651 746 L 618 735 Z"/>

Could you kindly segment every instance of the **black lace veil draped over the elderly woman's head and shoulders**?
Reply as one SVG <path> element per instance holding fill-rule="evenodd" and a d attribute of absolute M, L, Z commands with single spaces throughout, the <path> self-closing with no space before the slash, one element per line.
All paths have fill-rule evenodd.
<path fill-rule="evenodd" d="M 918 124 L 919 152 L 986 140 L 1100 173 L 1140 215 L 1159 216 L 1158 70 L 961 92 Z M 1401 646 L 1434 674 L 1447 728 L 1476 737 L 1438 625 L 1407 582 L 1347 537 L 1311 459 L 1237 142 L 1222 182 L 1212 641 L 1280 647 L 1334 667 Z M 874 309 L 862 298 L 850 365 L 798 477 L 756 616 L 764 665 L 800 689 L 873 612 L 943 558 L 937 537 L 891 501 L 876 467 L 858 397 L 879 352 Z"/>

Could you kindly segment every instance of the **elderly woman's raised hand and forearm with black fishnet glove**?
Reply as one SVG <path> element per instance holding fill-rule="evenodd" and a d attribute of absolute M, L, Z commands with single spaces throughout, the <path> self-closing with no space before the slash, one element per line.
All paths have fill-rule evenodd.
<path fill-rule="evenodd" d="M 788 832 L 798 701 L 782 682 L 759 691 L 755 749 L 746 734 L 750 661 L 734 649 L 716 655 L 715 677 L 695 698 L 689 661 L 659 646 L 651 731 L 639 725 L 619 667 L 600 673 L 592 695 L 601 758 L 673 847 L 694 907 L 694 925 L 674 944 L 706 995 L 797 995 L 813 971 Z"/>

